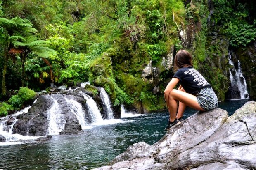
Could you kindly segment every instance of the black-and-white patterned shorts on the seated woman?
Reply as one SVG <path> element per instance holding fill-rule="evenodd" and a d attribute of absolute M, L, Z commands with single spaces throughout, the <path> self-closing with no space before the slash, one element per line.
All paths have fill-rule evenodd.
<path fill-rule="evenodd" d="M 197 96 L 197 101 L 199 105 L 205 111 L 213 110 L 218 107 L 218 98 L 211 87 L 201 89 L 194 95 Z"/>

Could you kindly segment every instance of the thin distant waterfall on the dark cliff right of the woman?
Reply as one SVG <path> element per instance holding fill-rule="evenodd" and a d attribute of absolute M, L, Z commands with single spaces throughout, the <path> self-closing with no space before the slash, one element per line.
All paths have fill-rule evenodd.
<path fill-rule="evenodd" d="M 231 83 L 231 86 L 229 88 L 230 99 L 248 99 L 249 94 L 247 92 L 247 84 L 242 74 L 240 61 L 238 60 L 237 69 L 236 69 L 235 64 L 231 59 L 232 57 L 231 54 L 228 53 L 228 56 L 229 56 L 228 63 L 231 66 L 233 66 L 232 69 L 229 69 L 230 83 Z"/>

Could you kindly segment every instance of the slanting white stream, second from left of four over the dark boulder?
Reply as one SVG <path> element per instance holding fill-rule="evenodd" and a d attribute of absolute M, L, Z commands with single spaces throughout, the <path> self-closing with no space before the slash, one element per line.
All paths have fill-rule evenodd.
<path fill-rule="evenodd" d="M 81 104 L 73 99 L 67 99 L 65 97 L 65 100 L 67 103 L 70 104 L 70 111 L 76 115 L 76 118 L 81 125 L 82 129 L 86 129 L 88 126 L 88 123 L 85 120 L 85 111 L 83 110 L 83 107 Z"/>

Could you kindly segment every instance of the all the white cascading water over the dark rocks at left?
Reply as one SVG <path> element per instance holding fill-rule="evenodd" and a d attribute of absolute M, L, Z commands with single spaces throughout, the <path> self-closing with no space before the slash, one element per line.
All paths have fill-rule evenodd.
<path fill-rule="evenodd" d="M 88 84 L 88 83 L 85 83 Z M 73 91 L 73 90 L 72 90 Z M 78 101 L 74 100 L 71 96 L 66 95 L 66 97 L 63 98 L 65 95 L 60 94 L 51 94 L 51 95 L 45 95 L 44 97 L 46 99 L 49 99 L 49 101 L 52 102 L 52 105 L 48 110 L 46 110 L 46 116 L 48 121 L 48 128 L 45 135 L 58 135 L 66 125 L 66 115 L 63 112 L 62 109 L 65 110 L 66 106 L 70 109 L 70 111 L 76 115 L 76 118 L 81 125 L 82 129 L 90 129 L 94 126 L 102 126 L 102 125 L 108 125 L 108 124 L 116 124 L 123 122 L 122 119 L 114 119 L 113 111 L 111 109 L 111 103 L 109 96 L 107 95 L 104 88 L 100 88 L 100 97 L 103 102 L 104 107 L 104 113 L 106 119 L 104 120 L 102 118 L 102 115 L 100 113 L 100 110 L 97 106 L 97 103 L 90 97 L 88 94 L 85 94 L 84 92 L 80 92 L 83 94 L 84 99 L 86 99 L 86 104 L 88 108 L 88 117 L 85 115 L 85 110 L 83 110 L 83 106 Z M 63 99 L 65 102 L 63 102 Z M 37 100 L 34 101 L 36 103 Z M 34 104 L 33 103 L 33 104 Z M 31 107 L 31 106 L 30 106 Z M 39 138 L 40 136 L 22 136 L 20 134 L 12 134 L 14 124 L 17 122 L 17 115 L 28 113 L 28 109 L 25 108 L 24 110 L 21 110 L 13 115 L 8 115 L 6 117 L 0 118 L 0 134 L 6 138 L 6 142 L 4 144 L 0 145 L 13 145 L 13 144 L 19 144 L 23 143 L 23 140 L 34 140 Z M 124 108 L 123 108 L 124 109 Z M 132 117 L 135 116 L 132 113 L 125 113 L 125 116 L 122 117 Z M 33 115 L 31 117 L 27 124 L 33 124 L 33 119 L 40 116 L 40 113 L 37 115 Z M 11 119 L 11 120 L 10 120 Z M 7 122 L 12 122 L 10 125 L 7 125 Z M 88 123 L 90 122 L 90 123 Z M 27 131 L 26 131 L 27 130 Z M 29 134 L 29 128 L 25 130 L 26 134 Z M 29 142 L 29 141 L 26 141 Z M 32 142 L 32 141 L 31 141 Z"/>

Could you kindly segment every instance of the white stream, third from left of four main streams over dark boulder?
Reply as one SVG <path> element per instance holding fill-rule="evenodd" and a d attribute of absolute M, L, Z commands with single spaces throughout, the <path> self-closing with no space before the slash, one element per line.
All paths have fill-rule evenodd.
<path fill-rule="evenodd" d="M 92 123 L 102 122 L 102 116 L 96 102 L 87 94 L 83 93 L 83 97 L 86 100 L 88 113 L 92 117 Z"/>

